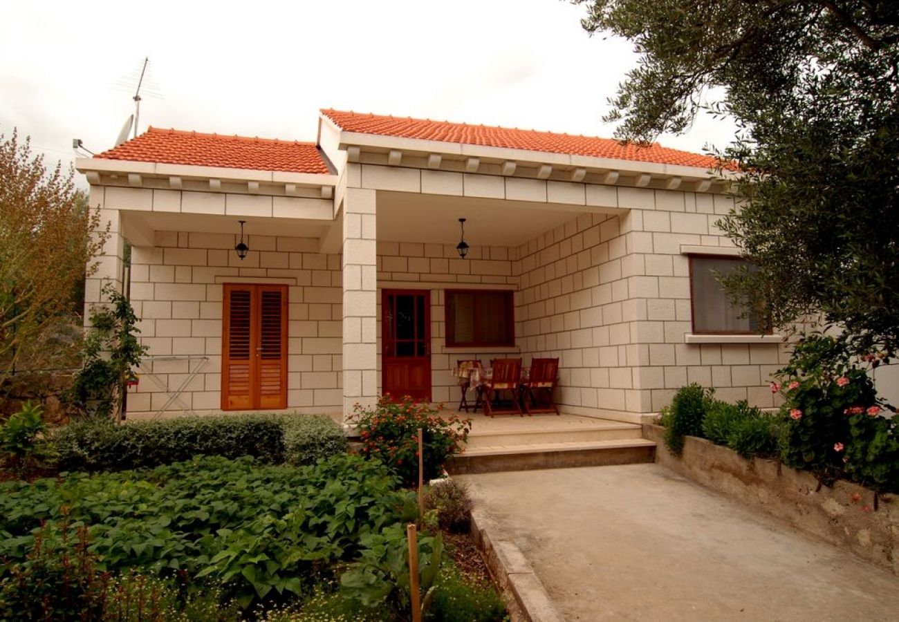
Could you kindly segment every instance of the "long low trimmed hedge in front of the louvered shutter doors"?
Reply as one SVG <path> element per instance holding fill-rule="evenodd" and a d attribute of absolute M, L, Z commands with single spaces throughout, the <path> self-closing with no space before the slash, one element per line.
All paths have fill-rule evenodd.
<path fill-rule="evenodd" d="M 116 424 L 108 419 L 73 422 L 54 431 L 63 471 L 119 471 L 158 467 L 193 456 L 284 459 L 284 431 L 273 415 L 177 417 Z"/>

